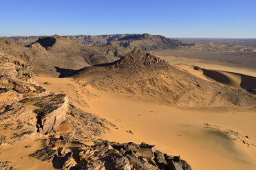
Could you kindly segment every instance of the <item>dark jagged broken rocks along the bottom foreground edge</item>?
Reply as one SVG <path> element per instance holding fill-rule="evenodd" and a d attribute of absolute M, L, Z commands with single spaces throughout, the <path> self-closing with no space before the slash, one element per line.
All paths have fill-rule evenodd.
<path fill-rule="evenodd" d="M 136 146 L 136 147 L 135 147 Z M 152 149 L 154 148 L 154 149 Z M 153 157 L 146 158 L 144 156 L 134 154 L 135 150 L 151 149 Z M 177 160 L 173 156 L 162 154 L 162 158 L 154 156 L 154 154 L 162 153 L 155 150 L 146 143 L 136 145 L 135 143 L 110 143 L 103 141 L 93 146 L 83 145 L 78 149 L 78 159 L 75 160 L 72 149 L 63 147 L 53 157 L 52 163 L 58 169 L 120 169 L 120 170 L 190 170 L 191 167 L 184 160 Z M 133 153 L 133 154 L 131 154 Z M 73 157 L 72 157 L 73 156 Z M 158 167 L 161 165 L 160 167 Z"/>

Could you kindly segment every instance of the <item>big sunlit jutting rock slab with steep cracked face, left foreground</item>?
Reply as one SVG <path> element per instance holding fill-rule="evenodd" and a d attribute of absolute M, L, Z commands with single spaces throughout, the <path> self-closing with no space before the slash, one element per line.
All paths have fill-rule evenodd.
<path fill-rule="evenodd" d="M 33 97 L 2 106 L 0 130 L 12 130 L 15 133 L 1 141 L 0 147 L 44 138 L 43 134 L 56 132 L 66 119 L 67 109 L 68 99 L 63 94 Z"/>

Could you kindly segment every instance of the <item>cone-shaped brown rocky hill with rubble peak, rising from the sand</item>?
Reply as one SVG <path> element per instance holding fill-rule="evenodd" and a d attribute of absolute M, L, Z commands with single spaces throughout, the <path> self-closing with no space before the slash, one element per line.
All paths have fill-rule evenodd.
<path fill-rule="evenodd" d="M 81 84 L 143 99 L 182 106 L 238 106 L 255 108 L 255 95 L 246 90 L 202 80 L 149 53 L 134 49 L 110 64 L 70 72 Z"/>

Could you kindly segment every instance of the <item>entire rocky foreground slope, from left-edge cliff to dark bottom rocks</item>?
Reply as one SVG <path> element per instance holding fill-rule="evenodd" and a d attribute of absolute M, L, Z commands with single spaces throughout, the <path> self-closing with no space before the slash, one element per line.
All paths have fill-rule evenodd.
<path fill-rule="evenodd" d="M 96 139 L 114 125 L 69 104 L 66 95 L 38 86 L 23 58 L 0 53 L 0 68 L 0 154 L 24 143 L 25 156 L 50 162 L 52 169 L 191 169 L 179 156 L 163 154 L 154 145 Z M 61 131 L 61 126 L 70 130 Z M 85 145 L 87 141 L 94 145 Z M 30 152 L 36 143 L 39 148 Z M 15 151 L 20 155 L 21 150 Z M 19 169 L 1 158 L 5 160 L 0 161 L 0 169 Z"/>

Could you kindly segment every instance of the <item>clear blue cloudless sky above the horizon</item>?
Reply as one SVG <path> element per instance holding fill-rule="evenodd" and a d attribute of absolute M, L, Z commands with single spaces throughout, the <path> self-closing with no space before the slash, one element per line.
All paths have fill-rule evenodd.
<path fill-rule="evenodd" d="M 0 36 L 256 38 L 256 0 L 0 0 Z"/>

